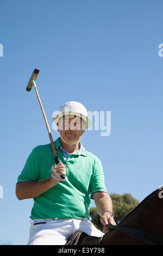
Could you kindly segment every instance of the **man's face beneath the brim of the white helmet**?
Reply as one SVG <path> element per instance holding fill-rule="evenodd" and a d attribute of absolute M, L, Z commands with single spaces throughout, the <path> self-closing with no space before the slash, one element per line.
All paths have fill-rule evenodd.
<path fill-rule="evenodd" d="M 58 131 L 67 144 L 78 142 L 85 129 L 84 120 L 76 115 L 65 115 L 59 119 Z"/>

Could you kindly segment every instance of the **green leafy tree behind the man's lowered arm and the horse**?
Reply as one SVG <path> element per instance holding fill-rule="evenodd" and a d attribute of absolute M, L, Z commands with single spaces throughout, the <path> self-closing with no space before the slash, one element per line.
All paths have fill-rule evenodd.
<path fill-rule="evenodd" d="M 139 201 L 132 197 L 130 193 L 124 193 L 122 195 L 111 193 L 110 197 L 112 199 L 114 220 L 117 224 L 139 204 Z M 90 208 L 90 215 L 95 227 L 103 230 L 103 225 L 100 221 L 101 217 L 99 216 L 96 207 Z"/>

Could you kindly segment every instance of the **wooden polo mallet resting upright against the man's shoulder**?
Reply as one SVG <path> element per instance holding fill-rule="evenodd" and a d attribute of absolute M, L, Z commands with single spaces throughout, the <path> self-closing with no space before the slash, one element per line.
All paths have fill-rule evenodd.
<path fill-rule="evenodd" d="M 52 146 L 52 150 L 53 150 L 53 155 L 54 155 L 54 160 L 55 160 L 55 163 L 58 164 L 60 163 L 60 160 L 59 158 L 57 157 L 57 151 L 55 149 L 55 145 L 54 145 L 54 142 L 53 142 L 53 138 L 52 138 L 52 133 L 51 133 L 51 130 L 49 128 L 49 125 L 48 125 L 48 121 L 47 121 L 47 118 L 46 118 L 46 114 L 45 114 L 45 111 L 43 109 L 43 106 L 42 106 L 42 103 L 41 103 L 41 100 L 40 100 L 40 96 L 39 96 L 39 93 L 37 91 L 37 87 L 36 87 L 36 83 L 35 83 L 35 80 L 37 78 L 37 75 L 39 74 L 39 69 L 35 69 L 33 71 L 33 74 L 32 76 L 30 77 L 30 80 L 28 82 L 28 85 L 27 85 L 27 92 L 30 92 L 30 90 L 32 89 L 32 87 L 34 86 L 35 88 L 35 92 L 36 92 L 36 95 L 37 95 L 37 99 L 39 100 L 39 103 L 40 103 L 40 107 L 41 107 L 41 110 L 42 110 L 42 114 L 43 114 L 43 118 L 45 120 L 45 123 L 46 123 L 46 127 L 47 127 L 47 131 L 48 131 L 48 135 L 49 135 L 49 139 L 50 139 L 50 142 L 51 142 L 51 146 Z M 53 173 L 54 175 L 54 173 Z M 65 179 L 65 175 L 61 175 L 60 176 L 61 179 Z M 62 181 L 62 180 L 60 180 Z"/>

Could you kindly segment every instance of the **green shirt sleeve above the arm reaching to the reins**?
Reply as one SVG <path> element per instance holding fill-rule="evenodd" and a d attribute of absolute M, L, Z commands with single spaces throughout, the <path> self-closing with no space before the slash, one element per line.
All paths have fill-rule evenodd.
<path fill-rule="evenodd" d="M 93 199 L 92 194 L 96 192 L 107 193 L 107 190 L 105 187 L 103 167 L 99 159 L 96 159 L 96 162 L 95 162 L 94 175 L 91 183 L 91 199 Z"/>

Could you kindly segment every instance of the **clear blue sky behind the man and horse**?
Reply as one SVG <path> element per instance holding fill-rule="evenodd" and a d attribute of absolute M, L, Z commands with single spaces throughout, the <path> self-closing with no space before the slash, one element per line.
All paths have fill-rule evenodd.
<path fill-rule="evenodd" d="M 53 139 L 52 114 L 79 101 L 111 111 L 111 134 L 85 132 L 102 161 L 108 193 L 141 202 L 162 184 L 163 57 L 161 0 L 0 0 L 0 244 L 26 245 L 33 200 L 15 196 L 17 176 L 36 145 L 49 143 L 36 85 Z M 92 202 L 93 206 L 93 202 Z"/>

